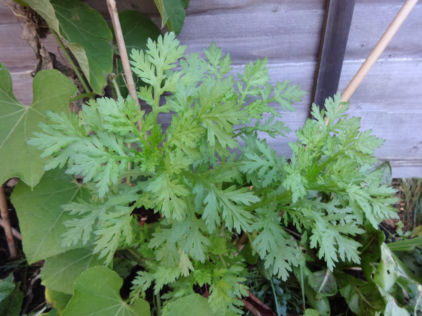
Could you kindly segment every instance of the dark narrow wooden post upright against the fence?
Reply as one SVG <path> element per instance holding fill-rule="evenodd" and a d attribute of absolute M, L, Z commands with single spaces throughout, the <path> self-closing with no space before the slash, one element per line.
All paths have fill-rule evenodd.
<path fill-rule="evenodd" d="M 312 101 L 324 106 L 338 90 L 355 0 L 327 0 Z"/>

